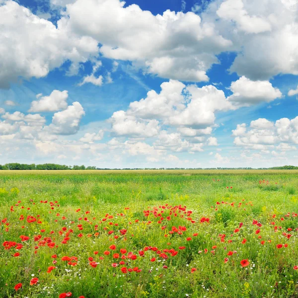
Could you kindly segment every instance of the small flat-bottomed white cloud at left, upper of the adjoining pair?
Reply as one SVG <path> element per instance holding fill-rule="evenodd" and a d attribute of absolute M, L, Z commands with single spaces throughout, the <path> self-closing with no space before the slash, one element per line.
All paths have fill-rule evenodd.
<path fill-rule="evenodd" d="M 53 90 L 49 96 L 37 94 L 38 100 L 31 103 L 29 112 L 54 112 L 67 108 L 68 91 Z"/>

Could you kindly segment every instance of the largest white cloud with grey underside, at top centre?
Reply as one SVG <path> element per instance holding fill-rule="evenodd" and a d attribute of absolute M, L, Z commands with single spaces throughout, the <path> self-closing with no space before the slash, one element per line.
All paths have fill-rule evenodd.
<path fill-rule="evenodd" d="M 206 71 L 219 62 L 215 55 L 231 45 L 193 12 L 154 16 L 119 0 L 77 0 L 67 13 L 70 30 L 96 39 L 106 58 L 138 62 L 166 78 L 208 80 Z"/>

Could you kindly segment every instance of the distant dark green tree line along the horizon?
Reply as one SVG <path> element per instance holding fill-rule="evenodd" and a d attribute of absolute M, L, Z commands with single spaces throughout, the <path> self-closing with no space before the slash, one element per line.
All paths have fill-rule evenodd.
<path fill-rule="evenodd" d="M 84 166 L 84 165 L 61 165 L 56 163 L 44 163 L 44 164 L 26 164 L 26 163 L 6 163 L 0 164 L 0 170 L 298 170 L 298 166 L 284 165 L 271 168 L 252 168 L 252 167 L 214 167 L 214 168 L 98 168 L 96 166 Z"/>

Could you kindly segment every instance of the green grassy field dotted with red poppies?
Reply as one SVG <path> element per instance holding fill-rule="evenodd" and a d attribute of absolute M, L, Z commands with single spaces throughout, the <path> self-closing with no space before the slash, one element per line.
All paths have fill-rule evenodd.
<path fill-rule="evenodd" d="M 0 171 L 0 297 L 295 298 L 297 214 L 294 170 Z"/>

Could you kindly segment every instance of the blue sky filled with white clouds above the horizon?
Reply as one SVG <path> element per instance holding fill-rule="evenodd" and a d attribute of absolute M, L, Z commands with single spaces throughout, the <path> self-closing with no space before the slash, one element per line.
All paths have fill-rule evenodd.
<path fill-rule="evenodd" d="M 298 165 L 298 0 L 0 0 L 0 164 Z"/>

